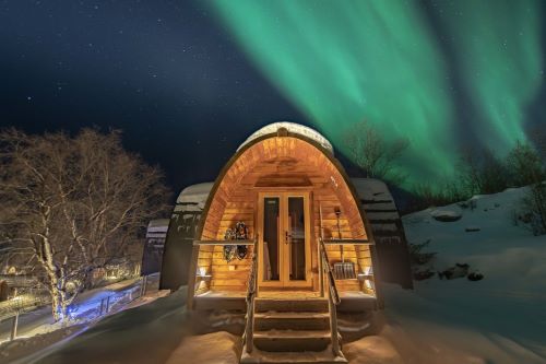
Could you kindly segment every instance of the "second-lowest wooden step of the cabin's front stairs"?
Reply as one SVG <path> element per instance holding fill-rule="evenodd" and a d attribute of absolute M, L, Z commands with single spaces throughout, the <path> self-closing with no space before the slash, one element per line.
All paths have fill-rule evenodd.
<path fill-rule="evenodd" d="M 323 351 L 330 344 L 329 330 L 256 331 L 254 345 L 269 352 Z"/>

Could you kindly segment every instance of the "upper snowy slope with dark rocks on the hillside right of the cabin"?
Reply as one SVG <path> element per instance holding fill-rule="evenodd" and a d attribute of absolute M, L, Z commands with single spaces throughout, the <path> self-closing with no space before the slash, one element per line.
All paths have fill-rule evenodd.
<path fill-rule="evenodd" d="M 432 209 L 405 215 L 406 237 L 413 244 L 430 239 L 428 251 L 439 253 L 432 267 L 436 270 L 466 262 L 471 270 L 485 274 L 483 284 L 489 290 L 510 295 L 543 293 L 546 297 L 546 236 L 533 236 L 512 223 L 525 190 L 476 196 L 474 210 L 461 209 L 458 203 L 441 208 L 461 212 L 462 218 L 451 223 L 434 220 Z M 468 226 L 479 231 L 466 232 Z"/>

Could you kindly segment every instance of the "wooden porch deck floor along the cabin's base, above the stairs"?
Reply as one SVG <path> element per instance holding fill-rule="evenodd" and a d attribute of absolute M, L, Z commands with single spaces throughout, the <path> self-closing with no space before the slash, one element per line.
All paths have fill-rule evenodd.
<path fill-rule="evenodd" d="M 360 291 L 340 292 L 341 303 L 337 310 L 358 313 L 376 309 L 377 300 L 370 294 Z M 263 291 L 259 293 L 259 298 L 269 300 L 316 300 L 320 297 L 319 292 L 312 291 Z M 207 291 L 194 297 L 194 309 L 227 309 L 246 310 L 246 292 Z"/>

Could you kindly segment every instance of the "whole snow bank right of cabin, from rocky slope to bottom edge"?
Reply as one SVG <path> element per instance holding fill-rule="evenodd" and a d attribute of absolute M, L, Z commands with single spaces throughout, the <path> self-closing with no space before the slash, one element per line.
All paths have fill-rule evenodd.
<path fill-rule="evenodd" d="M 384 287 L 389 339 L 406 363 L 546 363 L 546 236 L 512 223 L 525 188 L 475 197 L 476 208 L 444 223 L 431 209 L 403 218 L 410 243 L 430 240 L 434 270 L 468 263 L 485 279 Z M 479 231 L 467 232 L 468 226 Z"/>

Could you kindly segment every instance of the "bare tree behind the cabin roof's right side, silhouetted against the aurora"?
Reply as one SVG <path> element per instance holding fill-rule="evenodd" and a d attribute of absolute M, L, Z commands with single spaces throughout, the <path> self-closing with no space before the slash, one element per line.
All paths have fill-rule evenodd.
<path fill-rule="evenodd" d="M 406 175 L 396 165 L 396 160 L 410 146 L 407 139 L 388 142 L 368 121 L 355 124 L 345 132 L 345 143 L 353 162 L 363 169 L 366 177 L 402 184 Z"/>

